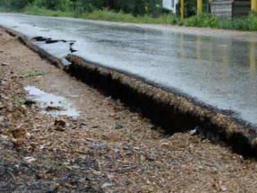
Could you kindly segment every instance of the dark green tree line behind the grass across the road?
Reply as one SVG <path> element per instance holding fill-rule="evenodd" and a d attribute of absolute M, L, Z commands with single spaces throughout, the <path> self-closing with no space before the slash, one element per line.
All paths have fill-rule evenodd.
<path fill-rule="evenodd" d="M 133 15 L 156 12 L 162 0 L 1 0 L 0 6 L 8 10 L 22 10 L 26 6 L 38 6 L 50 10 L 92 12 L 95 9 L 109 8 Z"/>

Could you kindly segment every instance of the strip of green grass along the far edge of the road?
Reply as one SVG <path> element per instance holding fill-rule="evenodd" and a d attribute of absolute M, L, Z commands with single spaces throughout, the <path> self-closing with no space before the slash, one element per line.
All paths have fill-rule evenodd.
<path fill-rule="evenodd" d="M 0 12 L 4 12 L 3 8 L 0 8 Z M 159 17 L 151 17 L 151 15 L 144 15 L 135 17 L 131 14 L 124 13 L 122 11 L 115 12 L 113 10 L 103 9 L 94 10 L 92 12 L 78 13 L 75 11 L 63 12 L 60 10 L 48 10 L 45 8 L 38 8 L 37 6 L 27 6 L 24 10 L 19 12 L 28 15 L 45 15 L 53 17 L 78 17 L 82 19 L 95 19 L 106 20 L 112 22 L 128 22 L 136 24 L 171 24 L 179 26 L 194 26 L 194 27 L 210 27 L 210 28 L 224 28 L 234 29 L 240 31 L 257 31 L 257 14 L 251 12 L 249 16 L 240 19 L 226 19 L 219 21 L 216 17 L 213 17 L 206 13 L 194 15 L 193 17 L 184 19 L 181 21 L 179 17 L 172 14 L 163 13 Z"/>

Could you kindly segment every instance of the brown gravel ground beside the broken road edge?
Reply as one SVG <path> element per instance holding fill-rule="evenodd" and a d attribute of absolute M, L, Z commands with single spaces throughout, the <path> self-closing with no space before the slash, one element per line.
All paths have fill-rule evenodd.
<path fill-rule="evenodd" d="M 22 76 L 32 70 L 49 73 Z M 1 29 L 0 85 L 0 192 L 256 192 L 255 160 L 187 133 L 163 134 Z M 26 106 L 27 85 L 66 97 L 79 117 Z"/>

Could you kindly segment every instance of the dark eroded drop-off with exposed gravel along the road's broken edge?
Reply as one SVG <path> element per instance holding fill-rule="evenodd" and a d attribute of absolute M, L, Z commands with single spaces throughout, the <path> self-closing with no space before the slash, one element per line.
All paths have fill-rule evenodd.
<path fill-rule="evenodd" d="M 18 37 L 42 58 L 63 68 L 59 60 L 36 47 L 24 35 L 8 28 L 6 31 Z M 257 157 L 255 128 L 231 118 L 227 112 L 206 107 L 188 97 L 181 97 L 176 92 L 152 87 L 131 76 L 89 64 L 74 55 L 67 56 L 67 60 L 73 63 L 66 69 L 72 76 L 105 90 L 128 106 L 140 109 L 144 117 L 150 118 L 154 124 L 162 126 L 169 133 L 196 130 L 201 138 L 229 144 L 233 151 L 245 158 Z"/>

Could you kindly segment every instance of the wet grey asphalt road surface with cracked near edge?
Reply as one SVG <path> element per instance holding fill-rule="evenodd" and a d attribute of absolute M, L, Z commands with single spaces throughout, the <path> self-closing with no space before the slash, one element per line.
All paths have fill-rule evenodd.
<path fill-rule="evenodd" d="M 0 14 L 0 25 L 35 41 L 63 60 L 68 53 L 144 78 L 257 126 L 257 40 L 169 27 L 89 22 L 82 19 Z M 217 32 L 220 33 L 220 32 Z M 256 36 L 257 37 L 257 36 Z"/>

